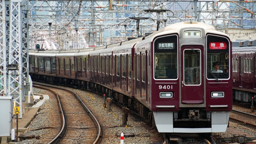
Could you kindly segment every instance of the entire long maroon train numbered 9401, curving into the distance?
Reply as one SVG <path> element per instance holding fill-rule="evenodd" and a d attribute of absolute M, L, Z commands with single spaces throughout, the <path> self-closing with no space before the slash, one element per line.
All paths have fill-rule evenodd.
<path fill-rule="evenodd" d="M 225 132 L 232 109 L 232 43 L 197 22 L 85 50 L 30 50 L 32 79 L 74 84 L 136 109 L 159 132 Z M 213 73 L 219 62 L 221 73 Z"/>

